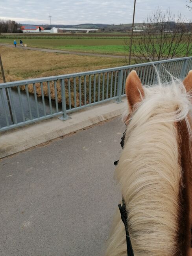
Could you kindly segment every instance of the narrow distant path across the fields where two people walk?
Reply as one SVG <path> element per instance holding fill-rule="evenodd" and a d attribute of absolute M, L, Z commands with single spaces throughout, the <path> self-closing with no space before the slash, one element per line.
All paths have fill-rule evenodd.
<path fill-rule="evenodd" d="M 9 44 L 2 44 L 2 46 L 7 46 L 14 48 L 15 46 L 9 45 Z M 33 50 L 33 51 L 40 51 L 40 52 L 57 52 L 57 53 L 63 53 L 63 54 L 76 54 L 76 55 L 85 55 L 85 56 L 95 56 L 95 57 L 108 57 L 108 58 L 125 58 L 125 56 L 120 55 L 108 55 L 108 54 L 96 54 L 96 53 L 89 53 L 89 52 L 70 52 L 70 51 L 62 51 L 62 50 L 51 50 L 51 49 L 43 49 L 43 48 L 35 48 L 35 47 L 20 47 L 21 50 Z"/>

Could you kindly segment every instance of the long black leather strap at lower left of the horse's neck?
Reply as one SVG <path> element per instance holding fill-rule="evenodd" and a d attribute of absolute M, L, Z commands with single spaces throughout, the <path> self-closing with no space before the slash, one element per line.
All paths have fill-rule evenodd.
<path fill-rule="evenodd" d="M 134 256 L 133 248 L 132 248 L 132 245 L 131 245 L 131 239 L 130 239 L 130 236 L 129 236 L 129 230 L 128 230 L 128 226 L 127 226 L 127 211 L 126 211 L 126 204 L 125 204 L 124 199 L 123 199 L 123 202 L 122 202 L 122 206 L 121 206 L 121 204 L 118 204 L 118 208 L 119 208 L 120 213 L 121 213 L 122 222 L 124 223 L 125 229 L 126 229 L 127 256 Z"/>

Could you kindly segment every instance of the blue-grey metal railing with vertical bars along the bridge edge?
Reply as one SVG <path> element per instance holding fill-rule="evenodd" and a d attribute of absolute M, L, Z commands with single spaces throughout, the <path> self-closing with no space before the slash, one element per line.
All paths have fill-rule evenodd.
<path fill-rule="evenodd" d="M 150 85 L 157 81 L 155 67 L 162 80 L 170 79 L 166 70 L 184 78 L 192 69 L 192 57 L 1 83 L 0 131 L 56 116 L 65 120 L 68 113 L 108 100 L 121 102 L 127 74 L 135 69 L 142 83 Z"/>

